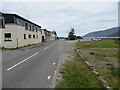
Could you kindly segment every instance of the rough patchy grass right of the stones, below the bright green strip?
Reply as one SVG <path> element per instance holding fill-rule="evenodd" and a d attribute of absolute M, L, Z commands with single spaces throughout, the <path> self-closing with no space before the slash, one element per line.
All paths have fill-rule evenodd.
<path fill-rule="evenodd" d="M 81 53 L 87 61 L 94 65 L 96 70 L 108 81 L 113 88 L 118 87 L 118 77 L 120 76 L 118 69 L 118 50 L 115 48 L 85 48 L 80 49 Z M 95 54 L 89 53 L 96 52 Z M 117 67 L 115 67 L 117 65 Z"/>

